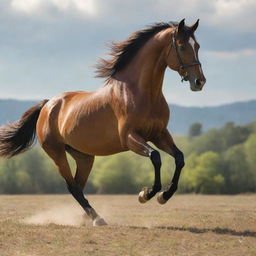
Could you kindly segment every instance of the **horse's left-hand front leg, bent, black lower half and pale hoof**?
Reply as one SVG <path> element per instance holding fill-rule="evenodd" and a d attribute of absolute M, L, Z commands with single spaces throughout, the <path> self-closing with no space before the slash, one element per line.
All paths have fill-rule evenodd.
<path fill-rule="evenodd" d="M 160 177 L 161 157 L 158 151 L 148 145 L 146 141 L 135 132 L 128 133 L 126 138 L 126 146 L 139 155 L 149 157 L 154 166 L 155 181 L 152 188 L 145 187 L 139 193 L 139 202 L 145 203 L 155 196 L 155 194 L 162 188 Z"/>

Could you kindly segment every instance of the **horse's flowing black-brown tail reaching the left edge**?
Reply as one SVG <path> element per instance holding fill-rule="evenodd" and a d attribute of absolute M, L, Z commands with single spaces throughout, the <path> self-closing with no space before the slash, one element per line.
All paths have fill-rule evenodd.
<path fill-rule="evenodd" d="M 37 119 L 47 101 L 43 100 L 28 109 L 17 122 L 0 127 L 0 157 L 15 156 L 32 146 Z"/>

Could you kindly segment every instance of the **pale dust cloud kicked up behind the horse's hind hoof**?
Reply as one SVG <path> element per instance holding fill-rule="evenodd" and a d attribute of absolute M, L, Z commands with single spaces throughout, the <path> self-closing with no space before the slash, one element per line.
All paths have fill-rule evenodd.
<path fill-rule="evenodd" d="M 22 222 L 32 225 L 56 224 L 75 227 L 92 225 L 92 221 L 84 214 L 80 206 L 70 206 L 69 204 L 62 204 L 40 211 L 23 219 Z"/>

